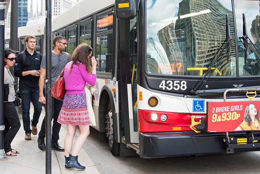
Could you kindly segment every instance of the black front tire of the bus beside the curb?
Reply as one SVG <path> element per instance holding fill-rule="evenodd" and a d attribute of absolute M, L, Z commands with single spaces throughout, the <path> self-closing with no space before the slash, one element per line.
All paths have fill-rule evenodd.
<path fill-rule="evenodd" d="M 115 141 L 115 136 L 114 136 L 114 128 L 115 128 L 115 112 L 113 111 L 112 105 L 110 102 L 108 102 L 107 107 L 106 107 L 106 116 L 105 118 L 107 119 L 106 121 L 106 136 L 109 140 L 109 147 L 110 147 L 110 151 L 113 154 L 113 156 L 119 156 L 119 147 L 120 147 L 120 143 L 117 143 Z"/>

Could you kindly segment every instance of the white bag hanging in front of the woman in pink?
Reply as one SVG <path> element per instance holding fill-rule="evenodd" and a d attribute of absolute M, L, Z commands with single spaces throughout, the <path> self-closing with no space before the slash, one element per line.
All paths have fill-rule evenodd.
<path fill-rule="evenodd" d="M 90 89 L 92 89 L 92 91 L 90 91 Z M 92 108 L 92 102 L 91 102 L 92 94 L 95 92 L 96 87 L 90 86 L 90 89 L 88 89 L 86 87 L 86 84 L 84 85 L 84 90 L 85 90 L 85 94 L 86 94 L 86 108 L 88 108 L 90 126 L 96 126 L 95 114 L 94 114 L 94 111 Z"/>

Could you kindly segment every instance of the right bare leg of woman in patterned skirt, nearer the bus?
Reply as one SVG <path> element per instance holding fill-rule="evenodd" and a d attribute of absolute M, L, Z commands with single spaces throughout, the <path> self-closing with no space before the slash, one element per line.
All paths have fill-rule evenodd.
<path fill-rule="evenodd" d="M 71 153 L 72 156 L 78 156 L 79 150 L 81 149 L 86 138 L 90 134 L 90 126 L 89 125 L 88 126 L 79 126 L 79 130 L 80 130 L 80 134 L 73 145 L 73 149 L 72 149 L 72 153 Z M 64 144 L 64 146 L 65 146 L 65 144 Z"/>

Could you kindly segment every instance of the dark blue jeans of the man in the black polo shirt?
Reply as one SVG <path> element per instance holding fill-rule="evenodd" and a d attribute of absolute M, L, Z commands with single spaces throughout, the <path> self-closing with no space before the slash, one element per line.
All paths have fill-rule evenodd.
<path fill-rule="evenodd" d="M 39 122 L 41 103 L 39 100 L 39 89 L 38 90 L 28 90 L 19 89 L 21 95 L 21 109 L 23 110 L 23 123 L 25 133 L 31 133 L 32 129 L 30 127 L 30 107 L 31 101 L 34 107 L 32 125 L 36 126 Z"/>

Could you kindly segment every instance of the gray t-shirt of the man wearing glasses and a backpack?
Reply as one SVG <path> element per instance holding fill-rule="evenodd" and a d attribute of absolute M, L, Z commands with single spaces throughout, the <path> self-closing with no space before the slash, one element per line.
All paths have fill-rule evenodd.
<path fill-rule="evenodd" d="M 70 61 L 71 61 L 71 55 L 70 55 Z M 44 54 L 44 56 L 42 56 L 40 67 L 46 68 L 45 64 L 46 64 L 46 54 Z M 68 59 L 67 59 L 67 56 L 64 52 L 62 52 L 59 55 L 52 52 L 52 85 L 54 84 L 54 82 L 58 78 L 62 69 L 67 64 L 68 64 Z M 44 88 L 46 88 L 46 86 L 44 86 Z"/>

